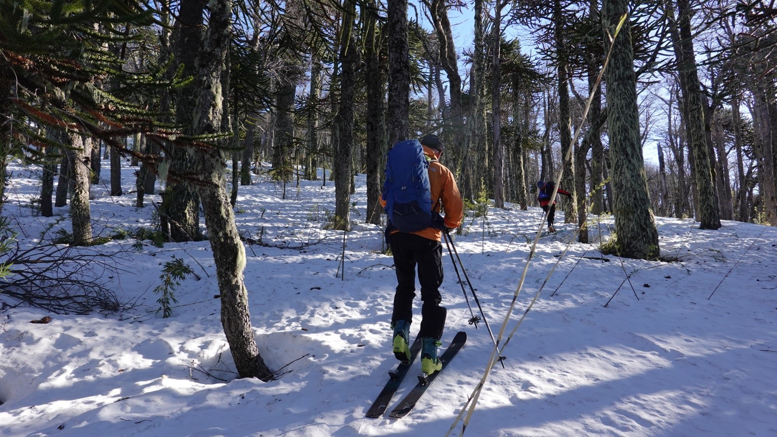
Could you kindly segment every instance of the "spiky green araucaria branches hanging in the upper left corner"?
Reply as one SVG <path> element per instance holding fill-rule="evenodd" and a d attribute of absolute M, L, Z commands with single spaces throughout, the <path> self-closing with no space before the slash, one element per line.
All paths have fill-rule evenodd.
<path fill-rule="evenodd" d="M 141 101 L 132 95 L 172 86 L 164 68 L 126 71 L 108 50 L 152 23 L 152 12 L 135 0 L 0 0 L 0 172 L 5 157 L 34 161 L 54 145 L 46 130 L 118 149 L 129 134 L 169 134 L 156 121 L 162 117 L 131 103 Z"/>

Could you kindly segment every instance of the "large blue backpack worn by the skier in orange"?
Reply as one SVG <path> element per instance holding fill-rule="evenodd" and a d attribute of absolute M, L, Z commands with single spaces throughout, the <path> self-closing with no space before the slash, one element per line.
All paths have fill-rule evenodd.
<path fill-rule="evenodd" d="M 389 228 L 402 232 L 442 228 L 441 216 L 432 208 L 429 161 L 418 140 L 394 144 L 386 154 L 383 199 Z"/>

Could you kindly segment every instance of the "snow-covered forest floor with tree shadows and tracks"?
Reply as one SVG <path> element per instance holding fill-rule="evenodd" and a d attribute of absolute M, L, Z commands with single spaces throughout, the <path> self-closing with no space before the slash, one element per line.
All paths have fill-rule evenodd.
<path fill-rule="evenodd" d="M 10 170 L 3 213 L 31 245 L 68 210 L 34 214 L 37 170 Z M 125 169 L 125 192 L 134 189 L 133 170 Z M 110 279 L 130 309 L 47 314 L 0 296 L 14 305 L 0 311 L 0 435 L 445 435 L 493 350 L 483 323 L 468 324 L 447 251 L 443 342 L 460 330 L 469 340 L 406 418 L 365 418 L 396 360 L 392 258 L 382 255 L 381 230 L 364 224 L 364 175 L 344 269 L 342 232 L 323 230 L 334 210 L 331 183 L 291 184 L 286 200 L 281 193 L 256 176 L 240 187 L 235 209 L 241 233 L 288 246 L 246 246 L 251 321 L 277 380 L 235 380 L 207 241 L 145 241 L 139 251 L 131 238 L 112 241 L 99 250 L 131 251 L 121 262 L 127 272 Z M 152 223 L 154 209 L 134 208 L 134 193 L 112 198 L 103 184 L 93 195 L 104 234 Z M 491 208 L 486 220 L 466 217 L 455 238 L 494 335 L 541 213 Z M 659 217 L 661 254 L 678 262 L 618 259 L 577 242 L 559 257 L 573 226 L 559 216 L 559 232 L 542 238 L 531 260 L 502 343 L 539 291 L 538 300 L 503 350 L 505 369 L 495 366 L 486 380 L 465 435 L 777 435 L 777 229 L 726 221 L 701 231 L 693 220 Z M 594 240 L 610 234 L 611 217 L 591 219 Z M 59 228 L 69 231 L 68 220 L 47 235 Z M 173 316 L 161 318 L 153 289 L 173 256 L 201 279 L 188 276 Z M 48 324 L 30 323 L 47 315 Z M 413 335 L 420 315 L 415 321 Z M 389 409 L 415 384 L 415 366 Z M 459 421 L 452 433 L 461 432 Z"/>

